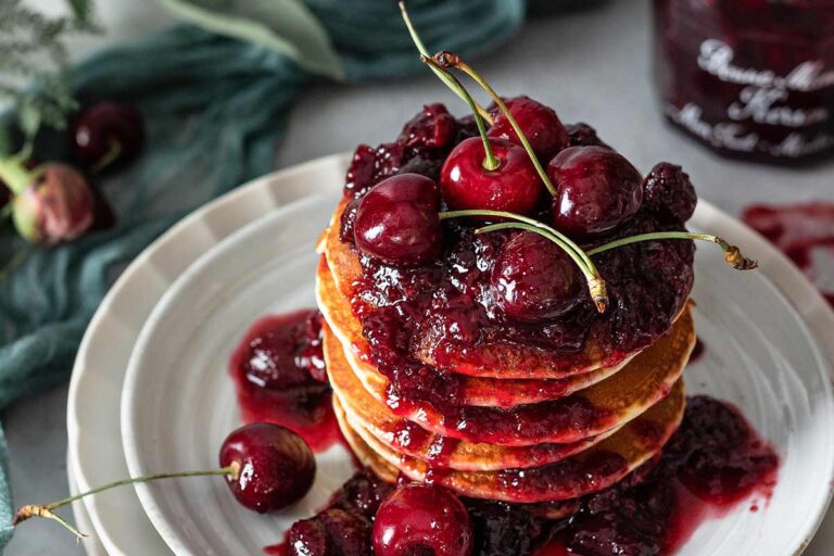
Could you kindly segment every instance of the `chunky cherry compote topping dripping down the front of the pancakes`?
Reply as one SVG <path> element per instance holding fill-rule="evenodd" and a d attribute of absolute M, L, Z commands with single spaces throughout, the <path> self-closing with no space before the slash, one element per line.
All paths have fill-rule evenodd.
<path fill-rule="evenodd" d="M 587 126 L 583 126 L 583 134 L 594 135 Z M 464 139 L 459 146 L 467 141 L 480 165 L 484 160 L 483 144 L 478 139 Z M 599 157 L 609 160 L 612 155 L 615 161 L 619 160 L 619 155 L 599 147 L 572 149 L 602 151 Z M 571 148 L 559 156 L 568 151 Z M 403 164 L 409 164 L 408 156 L 405 155 Z M 607 166 L 603 163 L 596 167 L 605 170 Z M 481 166 L 475 170 L 485 172 Z M 633 168 L 622 174 L 628 178 L 631 202 L 637 202 L 643 191 L 641 176 Z M 341 228 L 342 240 L 349 243 L 356 236 L 351 206 L 356 211 L 364 199 L 362 193 L 353 197 Z M 640 207 L 633 214 L 630 211 L 631 206 L 619 213 L 620 217 L 630 215 L 626 222 L 589 237 L 582 247 L 590 249 L 649 231 L 685 229 L 675 213 L 661 213 L 650 206 Z M 532 214 L 540 219 L 549 218 L 548 208 L 542 204 Z M 504 249 L 518 232 L 475 233 L 475 227 L 480 225 L 482 222 L 477 219 L 444 220 L 441 256 L 419 265 L 390 264 L 354 244 L 362 276 L 353 283 L 351 302 L 368 341 L 369 353 L 363 355 L 389 379 L 389 406 L 401 415 L 409 415 L 428 403 L 443 415 L 450 428 L 463 427 L 473 435 L 489 433 L 492 441 L 504 443 L 511 443 L 520 434 L 546 434 L 565 422 L 576 424 L 576 432 L 581 432 L 583 427 L 605 418 L 595 415 L 581 396 L 563 401 L 558 407 L 533 404 L 522 413 L 472 408 L 462 403 L 459 375 L 443 368 L 451 367 L 451 355 L 457 361 L 466 357 L 472 366 L 489 364 L 501 350 L 516 350 L 516 344 L 538 349 L 538 357 L 557 369 L 589 364 L 583 350 L 587 342 L 598 346 L 602 364 L 619 363 L 668 332 L 683 308 L 693 283 L 693 242 L 634 243 L 595 255 L 593 260 L 607 282 L 610 301 L 608 311 L 599 314 L 584 293 L 583 277 L 571 274 L 572 267 L 563 264 L 563 255 L 554 251 L 555 245 L 542 245 L 542 252 L 552 253 L 552 257 L 547 257 L 546 264 L 545 257 L 538 257 L 536 264 L 541 262 L 547 267 L 553 263 L 553 268 L 564 271 L 564 280 L 536 282 L 533 273 L 511 270 L 515 261 L 536 258 L 533 250 L 521 250 L 525 253 L 517 257 L 509 255 L 515 249 Z M 496 270 L 500 260 L 506 269 Z M 510 281 L 525 286 L 509 291 Z M 574 290 L 577 282 L 582 285 L 579 290 Z M 547 291 L 548 288 L 555 289 Z M 522 291 L 526 293 L 519 295 Z M 432 364 L 426 364 L 427 361 Z M 498 426 L 516 418 L 521 419 L 523 427 L 510 430 Z"/>

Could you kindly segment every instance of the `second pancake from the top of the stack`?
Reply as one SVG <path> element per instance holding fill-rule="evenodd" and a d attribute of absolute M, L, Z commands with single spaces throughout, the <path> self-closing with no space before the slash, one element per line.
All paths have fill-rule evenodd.
<path fill-rule="evenodd" d="M 368 363 L 370 346 L 362 334 L 362 323 L 353 315 L 350 302 L 341 295 L 323 256 L 316 271 L 316 299 L 330 329 L 345 349 L 351 366 L 365 388 L 377 391 L 388 379 Z M 622 366 L 602 368 L 564 379 L 506 379 L 462 376 L 460 396 L 465 405 L 511 407 L 554 400 L 587 388 L 617 372 Z"/>

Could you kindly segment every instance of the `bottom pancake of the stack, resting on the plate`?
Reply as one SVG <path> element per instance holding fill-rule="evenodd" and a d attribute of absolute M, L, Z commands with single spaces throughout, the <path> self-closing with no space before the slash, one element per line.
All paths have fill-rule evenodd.
<path fill-rule="evenodd" d="M 621 480 L 660 452 L 680 425 L 684 405 L 679 380 L 665 400 L 590 450 L 556 464 L 498 471 L 432 469 L 390 450 L 345 413 L 340 426 L 359 459 L 382 477 L 392 477 L 397 469 L 412 480 L 439 483 L 464 496 L 535 503 L 576 498 Z"/>

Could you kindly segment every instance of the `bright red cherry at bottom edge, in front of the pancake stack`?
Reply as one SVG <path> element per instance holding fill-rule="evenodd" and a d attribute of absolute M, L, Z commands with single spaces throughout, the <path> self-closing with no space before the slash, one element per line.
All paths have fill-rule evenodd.
<path fill-rule="evenodd" d="M 409 483 L 379 507 L 372 539 L 376 556 L 469 556 L 472 523 L 464 504 L 448 490 Z"/>

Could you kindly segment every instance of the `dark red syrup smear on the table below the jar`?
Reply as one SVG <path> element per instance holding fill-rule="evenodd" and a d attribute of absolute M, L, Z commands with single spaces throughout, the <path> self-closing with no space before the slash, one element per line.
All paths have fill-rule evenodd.
<path fill-rule="evenodd" d="M 834 305 L 834 203 L 750 205 L 742 219 L 785 253 Z"/>

